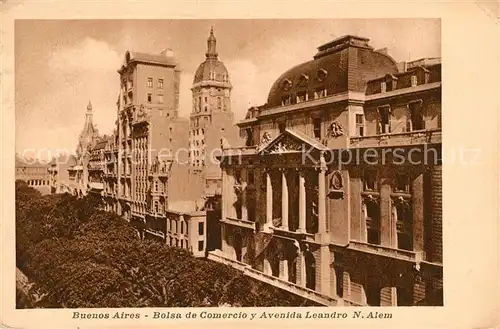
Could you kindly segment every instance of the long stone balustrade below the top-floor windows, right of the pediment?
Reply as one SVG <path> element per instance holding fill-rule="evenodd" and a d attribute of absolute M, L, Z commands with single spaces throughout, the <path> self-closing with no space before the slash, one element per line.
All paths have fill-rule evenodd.
<path fill-rule="evenodd" d="M 420 130 L 395 134 L 351 137 L 350 146 L 356 148 L 405 146 L 441 143 L 441 129 Z"/>

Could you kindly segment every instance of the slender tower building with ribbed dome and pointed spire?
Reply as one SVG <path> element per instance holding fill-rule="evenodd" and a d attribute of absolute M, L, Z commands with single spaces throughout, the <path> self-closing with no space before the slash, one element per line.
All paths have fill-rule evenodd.
<path fill-rule="evenodd" d="M 194 75 L 191 87 L 193 109 L 190 114 L 189 161 L 191 172 L 201 177 L 199 188 L 206 196 L 221 194 L 221 140 L 234 144 L 239 138 L 231 110 L 229 73 L 217 53 L 213 28 L 207 39 L 205 61 Z"/>

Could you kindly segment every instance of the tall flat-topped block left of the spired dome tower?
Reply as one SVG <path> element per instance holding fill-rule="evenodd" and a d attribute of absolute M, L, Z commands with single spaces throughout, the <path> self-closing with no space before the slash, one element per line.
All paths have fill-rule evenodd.
<path fill-rule="evenodd" d="M 145 221 L 192 196 L 187 152 L 178 152 L 187 150 L 189 131 L 178 116 L 181 71 L 170 51 L 129 51 L 118 73 L 118 197 L 127 218 Z"/>

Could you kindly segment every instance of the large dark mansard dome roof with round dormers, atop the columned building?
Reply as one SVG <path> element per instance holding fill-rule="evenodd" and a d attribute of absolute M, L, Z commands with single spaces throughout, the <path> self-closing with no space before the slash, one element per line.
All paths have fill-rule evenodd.
<path fill-rule="evenodd" d="M 272 85 L 267 106 L 282 105 L 284 99 L 294 102 L 297 94 L 334 95 L 346 91 L 364 92 L 366 82 L 398 72 L 394 59 L 374 51 L 369 39 L 347 35 L 318 47 L 314 59 L 283 73 Z"/>

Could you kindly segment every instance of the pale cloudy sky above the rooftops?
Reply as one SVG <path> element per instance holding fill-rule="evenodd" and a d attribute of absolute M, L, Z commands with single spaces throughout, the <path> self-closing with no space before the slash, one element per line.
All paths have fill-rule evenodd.
<path fill-rule="evenodd" d="M 388 48 L 397 62 L 441 56 L 438 19 L 16 20 L 16 152 L 44 158 L 73 150 L 89 101 L 99 131 L 112 133 L 117 70 L 127 50 L 173 50 L 182 70 L 179 113 L 188 117 L 193 75 L 205 60 L 211 26 L 233 85 L 236 120 L 249 106 L 266 102 L 283 72 L 346 34 L 369 38 L 375 49 Z"/>

